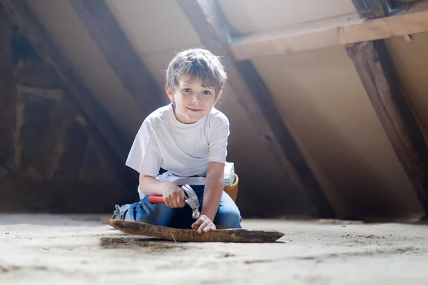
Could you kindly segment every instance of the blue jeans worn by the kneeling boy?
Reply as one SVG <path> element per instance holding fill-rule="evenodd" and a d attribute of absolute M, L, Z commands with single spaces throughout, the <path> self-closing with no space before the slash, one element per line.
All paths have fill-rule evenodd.
<path fill-rule="evenodd" d="M 203 204 L 203 185 L 190 186 L 195 190 L 199 199 L 199 211 Z M 143 197 L 140 202 L 126 204 L 121 207 L 121 216 L 130 222 L 145 222 L 163 227 L 174 227 L 178 229 L 191 229 L 195 222 L 192 218 L 192 209 L 186 204 L 183 208 L 169 208 L 165 204 L 152 204 L 148 197 Z M 117 218 L 114 217 L 113 218 Z M 233 199 L 223 191 L 214 224 L 217 229 L 241 228 L 242 218 L 240 211 Z"/>

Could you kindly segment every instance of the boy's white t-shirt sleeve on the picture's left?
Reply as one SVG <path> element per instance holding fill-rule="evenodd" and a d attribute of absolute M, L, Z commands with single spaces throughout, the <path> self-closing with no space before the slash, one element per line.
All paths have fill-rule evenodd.
<path fill-rule="evenodd" d="M 161 152 L 148 121 L 144 121 L 133 141 L 126 165 L 143 175 L 156 177 L 161 167 Z"/>

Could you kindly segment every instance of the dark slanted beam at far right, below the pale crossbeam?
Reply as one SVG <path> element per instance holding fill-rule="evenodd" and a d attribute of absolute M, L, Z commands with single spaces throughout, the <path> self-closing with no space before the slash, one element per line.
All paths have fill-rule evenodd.
<path fill-rule="evenodd" d="M 382 40 L 346 47 L 374 110 L 428 213 L 428 147 Z"/>

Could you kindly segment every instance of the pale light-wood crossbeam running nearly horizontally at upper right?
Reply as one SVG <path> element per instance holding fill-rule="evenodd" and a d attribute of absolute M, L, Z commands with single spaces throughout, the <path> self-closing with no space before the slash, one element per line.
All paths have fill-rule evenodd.
<path fill-rule="evenodd" d="M 235 38 L 230 45 L 230 51 L 235 59 L 242 61 L 427 31 L 428 0 L 412 4 L 406 14 L 369 21 L 360 19 L 358 14 L 350 14 L 298 27 L 253 33 Z"/>

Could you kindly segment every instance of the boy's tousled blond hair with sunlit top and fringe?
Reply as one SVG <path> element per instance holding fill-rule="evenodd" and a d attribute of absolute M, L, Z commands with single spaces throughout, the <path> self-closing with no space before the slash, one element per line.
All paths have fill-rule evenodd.
<path fill-rule="evenodd" d="M 183 75 L 190 76 L 190 80 L 199 78 L 205 87 L 214 87 L 215 96 L 227 78 L 220 58 L 202 48 L 190 48 L 175 55 L 166 70 L 166 85 L 174 90 Z"/>

